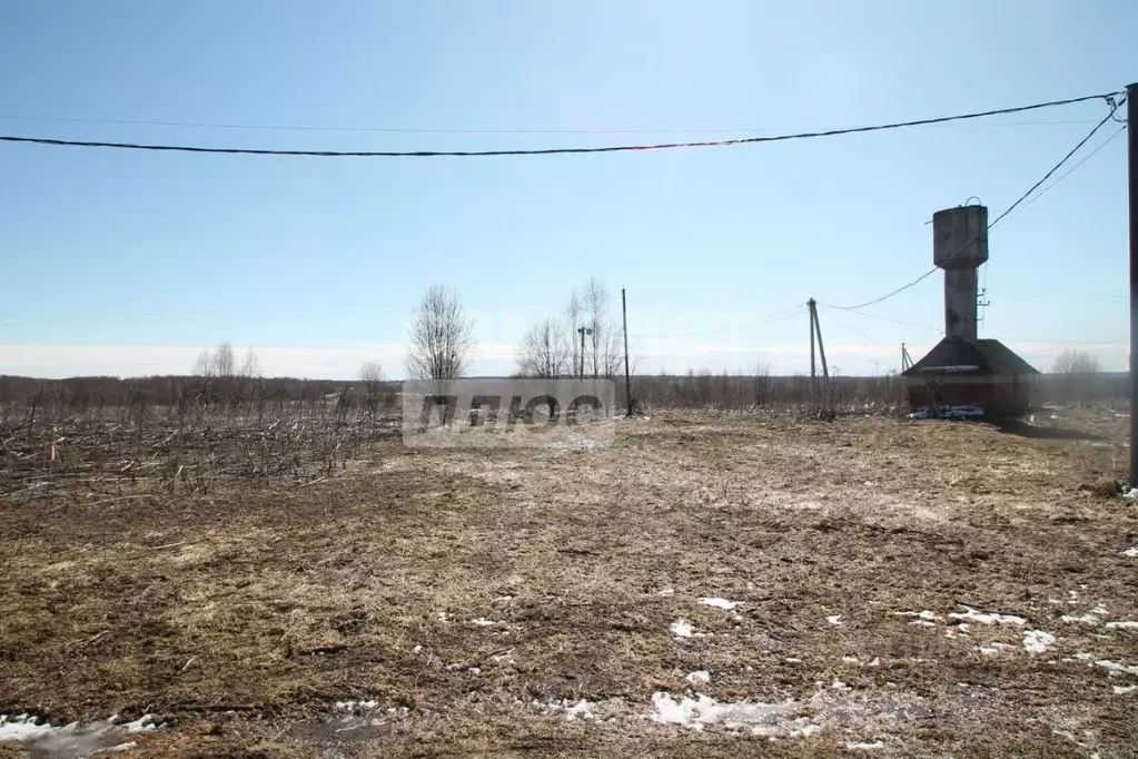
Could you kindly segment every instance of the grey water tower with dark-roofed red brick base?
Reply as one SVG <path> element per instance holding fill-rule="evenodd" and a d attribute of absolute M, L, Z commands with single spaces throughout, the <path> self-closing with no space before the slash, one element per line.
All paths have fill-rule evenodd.
<path fill-rule="evenodd" d="M 988 208 L 933 214 L 932 261 L 945 270 L 945 338 L 901 372 L 909 405 L 930 416 L 1023 415 L 1039 372 L 999 340 L 976 336 L 976 270 L 988 261 Z"/>

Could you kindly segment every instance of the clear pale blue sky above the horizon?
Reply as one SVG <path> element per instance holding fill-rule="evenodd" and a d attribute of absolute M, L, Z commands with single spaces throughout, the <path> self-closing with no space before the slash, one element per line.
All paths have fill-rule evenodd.
<path fill-rule="evenodd" d="M 1124 0 L 7 0 L 0 132 L 339 150 L 762 135 L 1121 89 L 1136 24 Z M 0 373 L 182 372 L 230 340 L 269 373 L 348 378 L 378 358 L 398 378 L 432 282 L 475 314 L 475 371 L 502 372 L 591 275 L 628 288 L 643 369 L 801 371 L 805 311 L 732 327 L 917 277 L 934 211 L 978 196 L 999 213 L 1105 114 L 595 156 L 0 145 Z M 297 125 L 344 131 L 262 127 Z M 992 231 L 983 336 L 1041 369 L 1065 347 L 1124 369 L 1124 156 L 1119 137 Z M 941 294 L 938 274 L 873 316 L 823 308 L 832 363 L 896 368 L 902 339 L 921 353 Z"/>

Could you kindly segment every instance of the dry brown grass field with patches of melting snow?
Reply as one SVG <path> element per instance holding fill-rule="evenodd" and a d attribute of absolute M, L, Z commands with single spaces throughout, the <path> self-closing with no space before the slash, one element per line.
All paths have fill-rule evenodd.
<path fill-rule="evenodd" d="M 10 427 L 0 757 L 1136 756 L 1129 420 L 1034 422 Z"/>

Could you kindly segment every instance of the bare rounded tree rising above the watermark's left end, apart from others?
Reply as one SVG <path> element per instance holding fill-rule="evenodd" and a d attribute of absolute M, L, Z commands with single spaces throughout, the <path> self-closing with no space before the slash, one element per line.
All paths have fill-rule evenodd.
<path fill-rule="evenodd" d="M 407 347 L 407 373 L 419 379 L 462 377 L 475 348 L 475 323 L 467 319 L 459 294 L 432 284 L 415 310 Z"/>

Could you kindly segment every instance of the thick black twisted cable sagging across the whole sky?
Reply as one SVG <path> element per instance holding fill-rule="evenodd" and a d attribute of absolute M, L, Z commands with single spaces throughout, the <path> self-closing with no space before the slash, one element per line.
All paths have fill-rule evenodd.
<path fill-rule="evenodd" d="M 749 137 L 731 140 L 707 140 L 688 142 L 658 142 L 653 145 L 618 145 L 596 148 L 541 148 L 541 149 L 509 149 L 509 150 L 273 150 L 266 148 L 206 148 L 200 146 L 185 145 L 146 145 L 140 142 L 102 142 L 91 140 L 57 140 L 40 137 L 0 135 L 2 142 L 19 142 L 31 145 L 64 146 L 77 148 L 115 148 L 119 150 L 157 150 L 175 152 L 203 152 L 223 155 L 256 155 L 256 156 L 312 156 L 320 158 L 437 158 L 437 157 L 489 157 L 489 156 L 551 156 L 551 155 L 579 155 L 593 152 L 629 152 L 642 150 L 671 150 L 677 148 L 706 148 L 726 147 L 735 145 L 758 145 L 762 142 L 784 142 L 789 140 L 805 140 L 824 137 L 839 137 L 842 134 L 859 134 L 864 132 L 880 132 L 884 130 L 896 130 L 909 126 L 924 126 L 929 124 L 943 124 L 949 122 L 983 118 L 986 116 L 997 116 L 1004 114 L 1016 114 L 1040 108 L 1054 108 L 1069 106 L 1088 100 L 1108 100 L 1113 104 L 1116 92 L 1105 94 L 1088 94 L 1067 100 L 1052 100 L 1030 106 L 1017 106 L 1014 108 L 999 108 L 996 110 L 984 110 L 972 114 L 960 114 L 956 116 L 940 116 L 937 118 L 920 118 L 908 122 L 896 122 L 892 124 L 879 124 L 874 126 L 853 126 L 848 129 L 835 129 L 823 132 L 798 132 L 793 134 L 775 134 L 772 137 Z"/>

